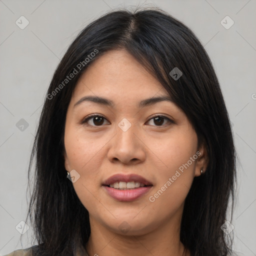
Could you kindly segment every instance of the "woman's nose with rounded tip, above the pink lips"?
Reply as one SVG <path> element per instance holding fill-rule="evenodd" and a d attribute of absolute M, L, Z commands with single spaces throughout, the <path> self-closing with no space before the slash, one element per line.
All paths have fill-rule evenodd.
<path fill-rule="evenodd" d="M 116 133 L 109 141 L 109 150 L 107 152 L 109 161 L 120 161 L 125 164 L 144 161 L 145 145 L 136 125 L 132 124 L 127 130 L 120 127 L 116 127 Z"/>

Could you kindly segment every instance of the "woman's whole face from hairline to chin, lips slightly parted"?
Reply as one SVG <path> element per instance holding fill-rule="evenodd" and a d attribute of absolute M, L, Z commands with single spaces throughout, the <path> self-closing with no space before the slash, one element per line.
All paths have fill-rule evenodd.
<path fill-rule="evenodd" d="M 70 100 L 65 168 L 90 221 L 113 232 L 143 234 L 178 223 L 204 167 L 184 112 L 167 99 L 143 101 L 161 96 L 169 94 L 142 65 L 112 50 L 88 66 Z"/>

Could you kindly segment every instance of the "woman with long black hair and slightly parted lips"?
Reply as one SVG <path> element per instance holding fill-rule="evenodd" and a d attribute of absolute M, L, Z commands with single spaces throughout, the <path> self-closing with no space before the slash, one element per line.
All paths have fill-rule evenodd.
<path fill-rule="evenodd" d="M 160 9 L 111 11 L 80 32 L 48 88 L 29 171 L 34 157 L 38 245 L 8 255 L 232 253 L 223 96 L 199 40 Z"/>

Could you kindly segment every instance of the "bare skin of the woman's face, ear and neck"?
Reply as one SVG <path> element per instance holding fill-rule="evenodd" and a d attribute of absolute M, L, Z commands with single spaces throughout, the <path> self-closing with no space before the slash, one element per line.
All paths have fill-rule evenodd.
<path fill-rule="evenodd" d="M 111 99 L 114 107 L 83 101 L 83 96 Z M 92 62 L 78 80 L 65 122 L 64 158 L 67 171 L 80 177 L 73 187 L 89 212 L 89 255 L 190 255 L 179 240 L 185 197 L 193 178 L 206 168 L 206 150 L 184 112 L 173 102 L 137 107 L 140 100 L 166 95 L 167 91 L 124 49 L 111 50 Z M 91 118 L 96 113 L 105 119 Z M 158 124 L 152 117 L 163 115 Z M 131 126 L 123 131 L 118 123 Z M 154 202 L 154 195 L 175 171 L 200 151 L 200 156 Z M 134 201 L 110 197 L 102 182 L 116 173 L 136 173 L 149 180 L 151 189 Z M 130 228 L 123 233 L 123 221 Z"/>

